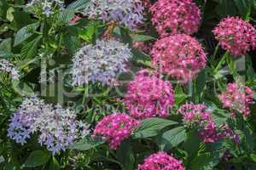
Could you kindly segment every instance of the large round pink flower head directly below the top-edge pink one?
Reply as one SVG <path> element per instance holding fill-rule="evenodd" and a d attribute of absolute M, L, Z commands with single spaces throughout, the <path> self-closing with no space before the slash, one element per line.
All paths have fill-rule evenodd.
<path fill-rule="evenodd" d="M 207 55 L 194 37 L 176 34 L 154 43 L 152 64 L 160 71 L 186 83 L 207 64 Z"/>

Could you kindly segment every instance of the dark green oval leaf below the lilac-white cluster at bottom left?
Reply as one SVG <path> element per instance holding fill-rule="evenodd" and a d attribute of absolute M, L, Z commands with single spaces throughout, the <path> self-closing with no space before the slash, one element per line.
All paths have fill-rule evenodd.
<path fill-rule="evenodd" d="M 45 150 L 33 151 L 26 159 L 24 166 L 25 167 L 42 166 L 49 161 L 49 157 L 50 157 L 49 151 L 45 151 Z"/>

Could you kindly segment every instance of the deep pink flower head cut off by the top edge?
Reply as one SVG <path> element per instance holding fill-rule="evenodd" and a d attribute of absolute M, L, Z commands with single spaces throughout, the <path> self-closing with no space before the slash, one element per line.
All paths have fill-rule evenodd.
<path fill-rule="evenodd" d="M 150 10 L 160 37 L 177 33 L 191 35 L 201 23 L 201 10 L 192 0 L 158 0 Z"/>

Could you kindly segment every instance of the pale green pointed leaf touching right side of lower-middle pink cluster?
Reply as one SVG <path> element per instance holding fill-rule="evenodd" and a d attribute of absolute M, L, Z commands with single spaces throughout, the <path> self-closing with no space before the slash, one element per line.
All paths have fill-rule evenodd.
<path fill-rule="evenodd" d="M 164 127 L 168 127 L 170 125 L 177 124 L 177 122 L 173 122 L 167 119 L 160 118 L 149 118 L 144 119 L 142 121 L 141 127 L 139 127 L 134 133 L 134 139 L 144 139 L 148 137 L 153 137 L 160 132 Z"/>

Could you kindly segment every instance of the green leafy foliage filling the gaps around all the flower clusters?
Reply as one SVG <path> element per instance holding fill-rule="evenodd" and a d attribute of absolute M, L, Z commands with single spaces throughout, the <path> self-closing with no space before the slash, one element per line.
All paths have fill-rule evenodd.
<path fill-rule="evenodd" d="M 74 14 L 79 14 L 81 4 L 86 0 L 66 1 L 67 9 L 56 14 L 53 20 L 45 21 L 36 18 L 24 8 L 23 0 L 0 1 L 0 58 L 13 60 L 22 71 L 20 82 L 11 82 L 8 77 L 1 75 L 0 82 L 0 168 L 1 169 L 105 169 L 105 170 L 133 170 L 143 161 L 145 156 L 157 150 L 166 150 L 173 156 L 183 160 L 187 169 L 255 169 L 256 168 L 256 108 L 252 106 L 252 116 L 241 126 L 235 127 L 242 139 L 239 146 L 230 141 L 221 141 L 216 144 L 202 144 L 193 131 L 185 132 L 181 127 L 180 117 L 175 115 L 169 121 L 161 119 L 146 120 L 143 129 L 129 140 L 125 141 L 117 151 L 108 150 L 108 144 L 97 143 L 84 139 L 75 144 L 71 150 L 57 156 L 51 156 L 47 150 L 37 144 L 36 138 L 29 144 L 20 146 L 6 137 L 9 117 L 20 105 L 22 98 L 27 94 L 38 93 L 48 102 L 61 103 L 61 105 L 76 106 L 79 117 L 89 122 L 92 127 L 95 123 L 113 111 L 122 111 L 124 105 L 117 101 L 122 96 L 111 91 L 100 97 L 84 99 L 85 88 L 73 89 L 65 75 L 71 64 L 73 54 L 84 42 L 95 42 L 102 37 L 107 25 L 99 20 L 79 20 L 76 25 L 68 24 Z M 152 1 L 154 3 L 154 1 Z M 219 77 L 214 72 L 224 55 L 223 50 L 216 50 L 218 42 L 212 35 L 212 28 L 226 16 L 241 16 L 256 24 L 255 0 L 197 0 L 196 3 L 202 11 L 201 29 L 195 37 L 202 43 L 208 54 L 208 67 L 201 71 L 200 76 L 193 82 L 193 94 L 189 94 L 188 87 L 174 84 L 176 91 L 176 105 L 182 105 L 185 100 L 195 103 L 205 102 L 216 111 L 216 120 L 219 123 L 227 122 L 217 95 L 227 82 L 233 82 L 236 75 L 235 60 L 230 60 L 230 74 Z M 150 37 L 146 31 L 131 32 L 125 28 L 116 27 L 113 36 L 121 38 L 123 42 L 149 41 L 158 38 L 153 26 L 150 24 L 150 14 L 146 20 L 150 27 Z M 34 24 L 36 23 L 36 24 Z M 26 28 L 26 29 L 24 29 Z M 217 53 L 216 59 L 213 54 Z M 150 62 L 148 54 L 133 49 L 134 59 L 132 69 L 147 68 Z M 244 58 L 246 69 L 239 71 L 245 77 L 247 85 L 256 89 L 256 58 L 255 51 Z M 55 69 L 55 82 L 38 82 L 40 72 L 49 72 Z M 131 80 L 131 75 L 121 77 Z M 61 84 L 60 84 L 61 83 Z M 215 85 L 217 84 L 217 89 Z M 104 91 L 104 88 L 89 85 L 92 92 Z M 125 91 L 125 88 L 124 88 Z M 64 93 L 65 92 L 65 93 Z M 79 93 L 75 97 L 67 94 Z M 104 91 L 105 92 L 105 91 Z M 65 95 L 64 95 L 65 94 Z M 86 106 L 85 108 L 83 106 Z M 108 108 L 106 108 L 108 106 Z M 108 109 L 108 110 L 107 110 Z M 107 111 L 106 111 L 107 110 Z M 97 113 L 97 114 L 96 114 Z M 172 121 L 178 122 L 172 124 Z M 142 137 L 143 136 L 143 137 Z M 165 140 L 163 140 L 165 139 Z M 223 160 L 224 151 L 229 150 L 233 155 L 230 160 Z"/>

